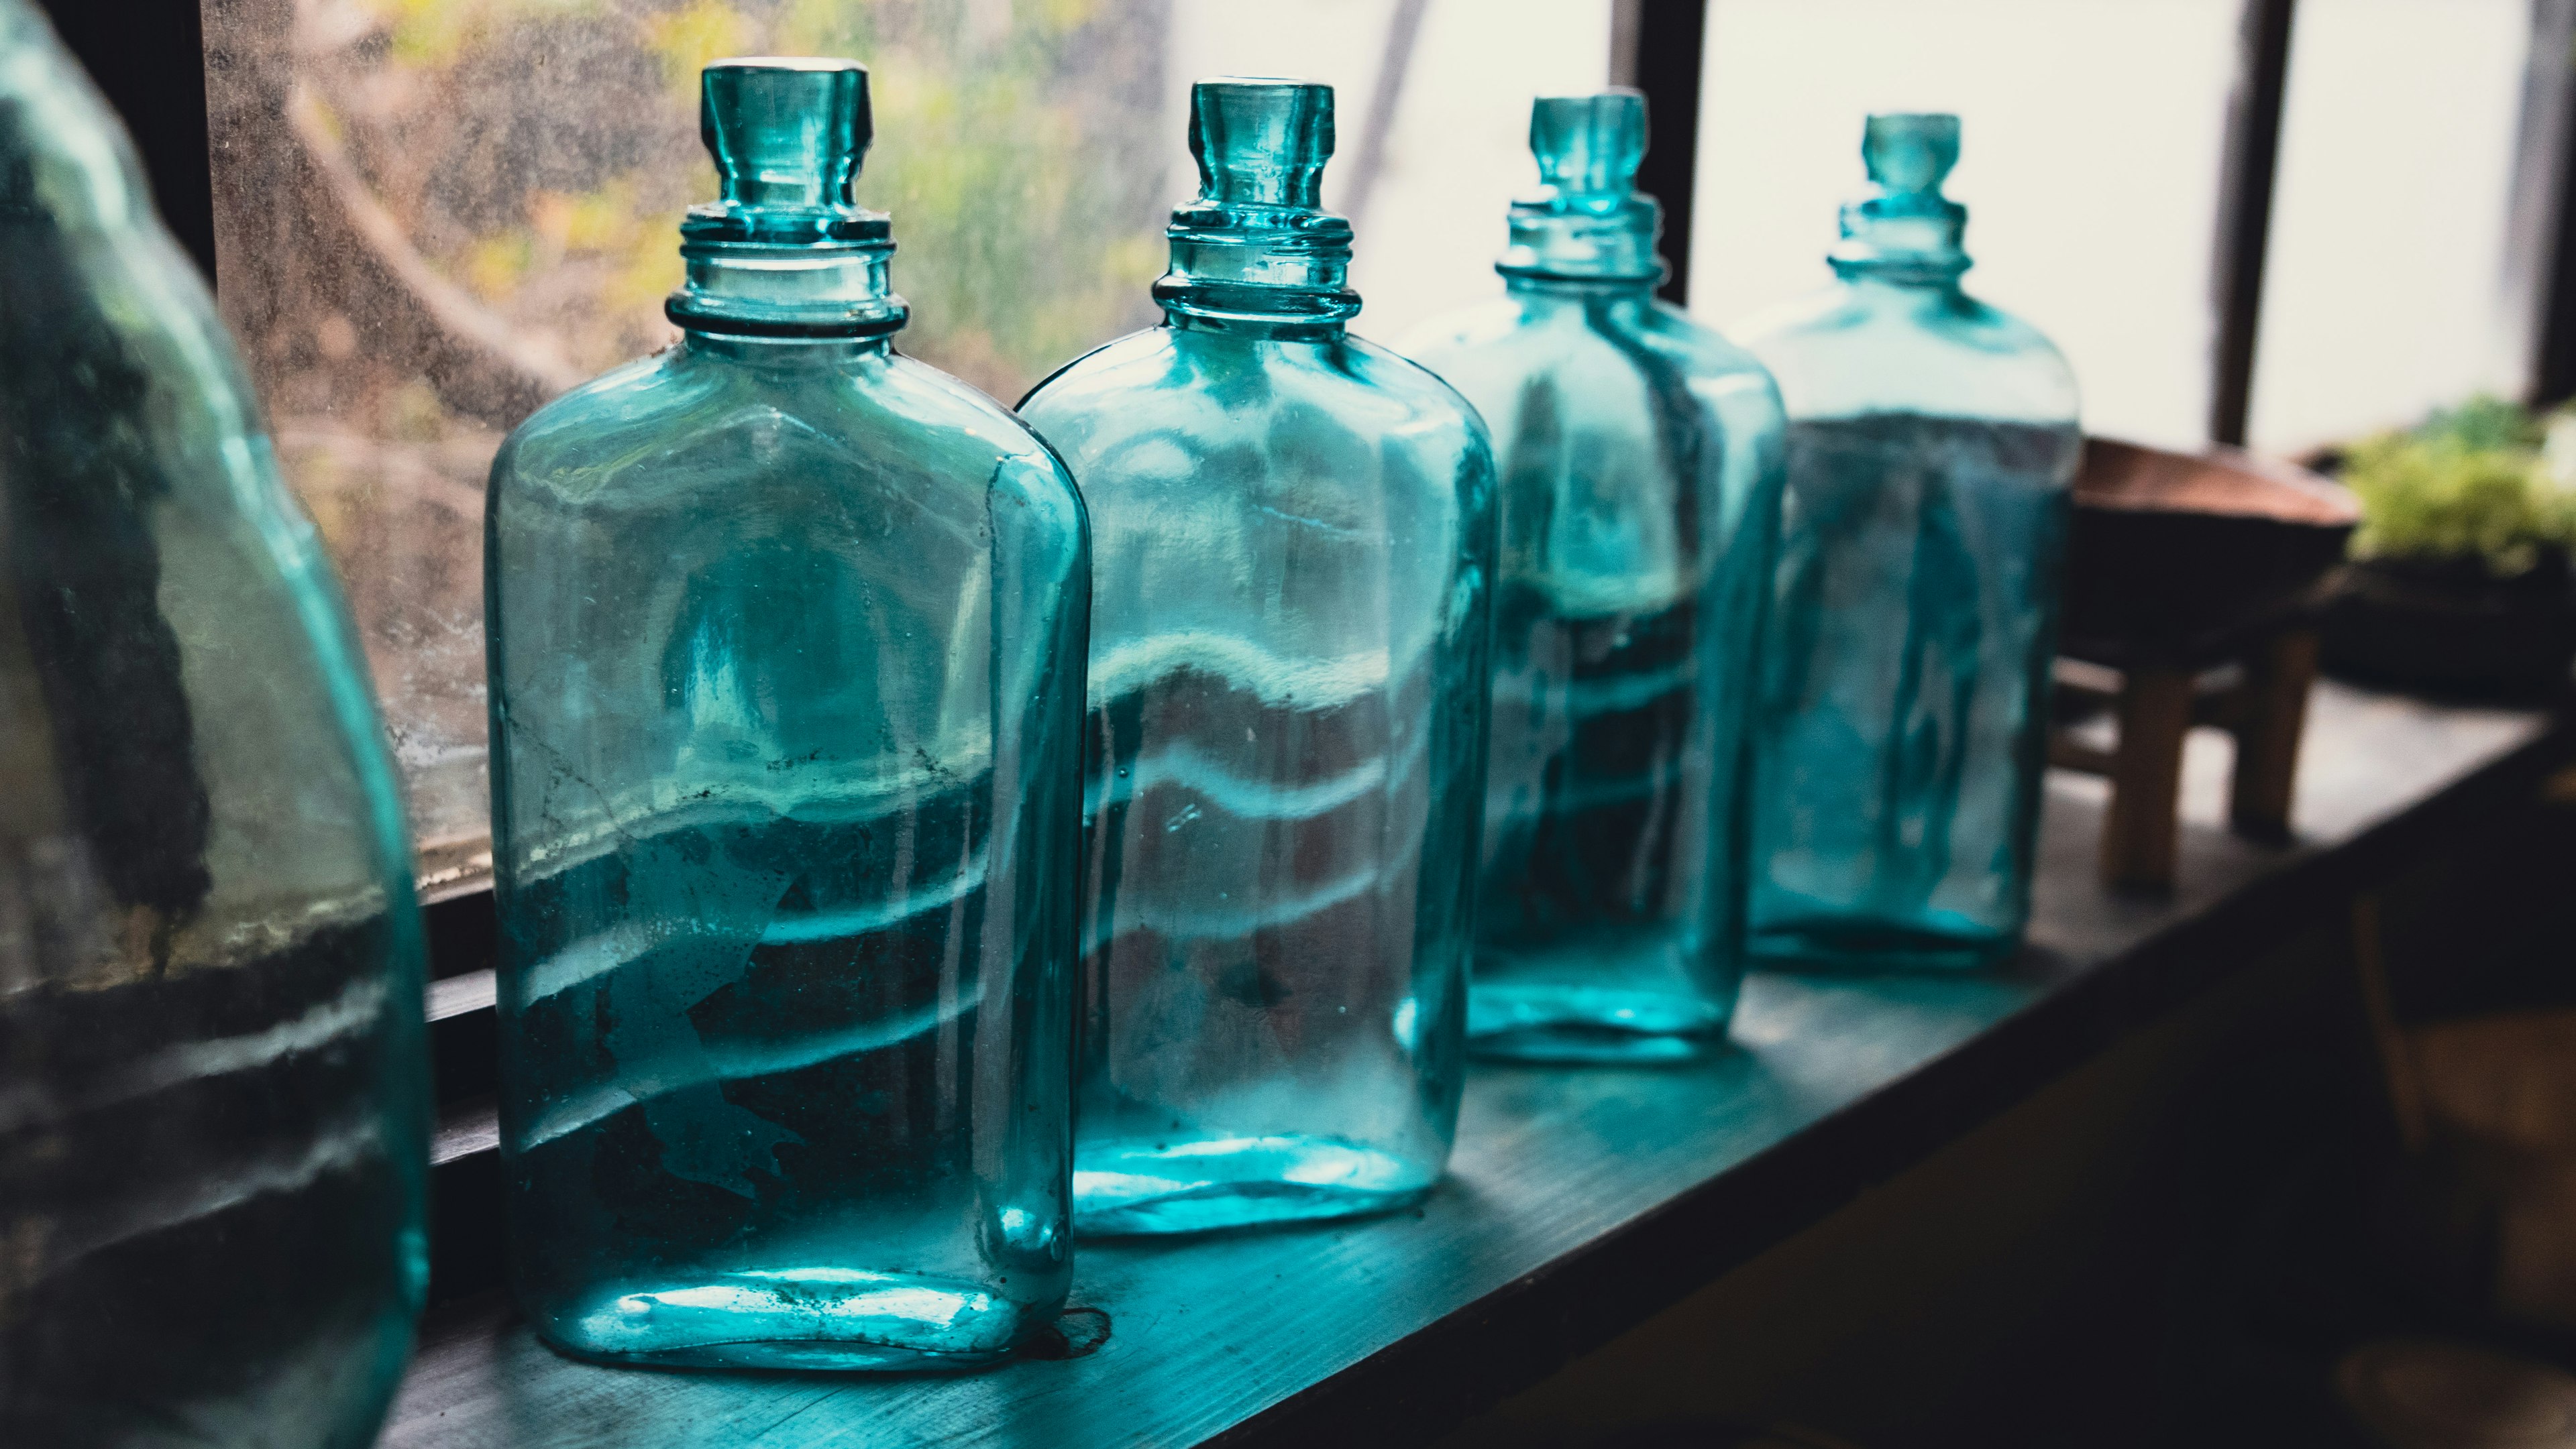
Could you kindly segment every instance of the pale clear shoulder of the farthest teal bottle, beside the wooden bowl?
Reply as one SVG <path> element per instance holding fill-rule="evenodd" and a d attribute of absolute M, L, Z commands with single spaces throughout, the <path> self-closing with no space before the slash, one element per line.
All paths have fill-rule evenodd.
<path fill-rule="evenodd" d="M 1958 288 L 1837 283 L 1736 327 L 1790 417 L 1922 412 L 2076 425 L 2066 355 L 2038 327 Z"/>

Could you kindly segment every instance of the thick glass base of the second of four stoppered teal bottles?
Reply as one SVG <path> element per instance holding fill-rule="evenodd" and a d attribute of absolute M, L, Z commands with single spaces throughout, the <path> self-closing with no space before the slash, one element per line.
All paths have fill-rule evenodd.
<path fill-rule="evenodd" d="M 1412 1207 L 1437 1168 L 1340 1138 L 1110 1140 L 1074 1148 L 1074 1233 L 1208 1233 Z"/>

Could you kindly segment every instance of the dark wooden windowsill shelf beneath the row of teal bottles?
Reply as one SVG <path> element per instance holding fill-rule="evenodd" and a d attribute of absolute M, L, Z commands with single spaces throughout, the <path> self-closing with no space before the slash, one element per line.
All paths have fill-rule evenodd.
<path fill-rule="evenodd" d="M 1097 1351 L 1056 1343 L 966 1377 L 600 1369 L 479 1295 L 422 1325 L 386 1444 L 1419 1444 L 2334 919 L 2576 754 L 2540 713 L 2336 685 L 2308 721 L 2300 844 L 2218 826 L 2226 741 L 2202 734 L 2177 891 L 2112 896 L 2094 885 L 2102 782 L 2050 775 L 2032 945 L 2012 970 L 1757 975 L 1739 1050 L 1703 1066 L 1476 1068 L 1450 1181 L 1419 1212 L 1084 1243 L 1074 1305 L 1108 1315 Z M 474 991 L 443 986 L 456 1029 L 489 1009 Z M 443 1179 L 497 1181 L 477 1109 L 448 1107 Z"/>

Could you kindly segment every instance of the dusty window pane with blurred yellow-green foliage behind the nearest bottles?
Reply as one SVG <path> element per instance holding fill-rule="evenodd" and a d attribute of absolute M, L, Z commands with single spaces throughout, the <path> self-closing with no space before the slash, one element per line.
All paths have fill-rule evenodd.
<path fill-rule="evenodd" d="M 724 54 L 873 67 L 858 193 L 894 214 L 899 347 L 1015 401 L 1154 319 L 1208 72 L 1342 88 L 1365 332 L 1492 288 L 1528 95 L 1600 85 L 1607 0 L 206 0 L 219 296 L 430 875 L 487 834 L 484 471 L 536 404 L 675 337 L 675 226 L 714 193 L 696 72 Z"/>

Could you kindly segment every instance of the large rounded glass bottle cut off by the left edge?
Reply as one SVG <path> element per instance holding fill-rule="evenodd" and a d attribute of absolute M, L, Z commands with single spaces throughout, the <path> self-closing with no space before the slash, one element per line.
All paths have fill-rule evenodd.
<path fill-rule="evenodd" d="M 0 1444 L 363 1449 L 428 1284 L 366 661 L 124 131 L 0 0 Z"/>

